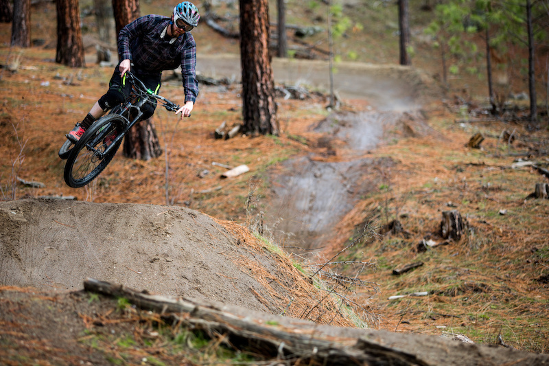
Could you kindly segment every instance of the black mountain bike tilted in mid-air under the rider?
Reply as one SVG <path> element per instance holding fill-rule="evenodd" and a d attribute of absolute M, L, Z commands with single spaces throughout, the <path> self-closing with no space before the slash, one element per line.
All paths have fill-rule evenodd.
<path fill-rule="evenodd" d="M 95 179 L 115 156 L 122 139 L 143 115 L 145 103 L 160 104 L 167 111 L 176 112 L 178 104 L 145 87 L 137 76 L 128 71 L 126 82 L 132 84 L 132 92 L 126 102 L 115 106 L 108 115 L 97 119 L 76 144 L 65 141 L 59 157 L 65 163 L 65 183 L 69 187 L 83 187 Z"/>

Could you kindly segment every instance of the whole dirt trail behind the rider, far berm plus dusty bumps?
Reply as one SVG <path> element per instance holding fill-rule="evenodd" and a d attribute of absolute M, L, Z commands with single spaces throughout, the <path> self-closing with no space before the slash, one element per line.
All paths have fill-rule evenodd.
<path fill-rule="evenodd" d="M 327 61 L 274 58 L 272 68 L 277 83 L 329 90 Z M 197 69 L 215 78 L 240 80 L 240 58 L 235 55 L 199 55 Z M 265 217 L 274 238 L 289 247 L 323 247 L 331 227 L 360 195 L 378 185 L 379 168 L 392 164 L 390 159 L 373 161 L 366 152 L 384 140 L 403 113 L 421 108 L 430 87 L 428 78 L 409 67 L 338 63 L 336 93 L 344 102 L 361 100 L 369 106 L 333 113 L 310 126 L 320 137 L 309 143 L 327 148 L 326 154 L 296 157 L 272 171 L 274 197 Z M 333 148 L 337 144 L 342 148 Z"/>

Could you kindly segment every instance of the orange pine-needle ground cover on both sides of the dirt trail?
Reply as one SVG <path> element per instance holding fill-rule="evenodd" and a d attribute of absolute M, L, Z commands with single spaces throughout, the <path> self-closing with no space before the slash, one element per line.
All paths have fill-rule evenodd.
<path fill-rule="evenodd" d="M 148 11 L 150 9 L 145 5 L 143 13 Z M 33 30 L 45 38 L 49 37 L 49 41 L 54 39 L 55 29 L 51 23 L 41 23 L 43 25 L 36 24 Z M 193 117 L 184 123 L 176 124 L 165 112 L 156 114 L 155 123 L 161 135 L 161 144 L 167 146 L 169 157 L 170 175 L 167 179 L 164 175 L 164 157 L 148 162 L 116 157 L 91 187 L 73 190 L 62 181 L 63 165 L 57 157 L 58 147 L 73 122 L 82 119 L 104 91 L 111 69 L 93 66 L 74 70 L 61 67 L 51 62 L 55 51 L 48 47 L 11 50 L 5 46 L 9 42 L 10 27 L 9 24 L 0 24 L 0 40 L 4 45 L 0 49 L 0 59 L 21 56 L 18 72 L 1 71 L 0 155 L 3 159 L 0 161 L 0 181 L 3 183 L 9 176 L 10 159 L 15 159 L 19 154 L 11 128 L 14 124 L 18 126 L 21 141 L 27 141 L 24 151 L 26 159 L 19 174 L 26 180 L 46 184 L 43 189 L 19 186 L 17 198 L 70 195 L 80 200 L 93 198 L 96 202 L 165 204 L 167 180 L 170 203 L 188 205 L 220 220 L 233 220 L 223 225 L 229 231 L 245 235 L 248 243 L 257 245 L 258 253 L 267 250 L 261 240 L 249 231 L 240 232 L 244 229 L 234 223 L 248 219 L 246 198 L 249 177 L 220 181 L 218 176 L 224 170 L 213 167 L 211 161 L 229 165 L 248 164 L 257 187 L 264 190 L 267 184 L 264 176 L 266 167 L 294 152 L 310 148 L 292 137 L 304 137 L 306 141 L 316 139 L 313 133 L 307 131 L 307 126 L 325 115 L 319 108 L 323 100 L 281 101 L 279 117 L 286 134 L 279 138 L 218 141 L 211 138 L 211 133 L 222 121 L 229 125 L 240 121 L 239 90 L 233 87 L 219 92 L 215 88 L 204 87 L 200 95 L 200 108 L 196 108 Z M 202 39 L 215 39 L 207 27 L 197 29 L 197 32 L 202 32 Z M 366 49 L 366 53 L 371 55 L 369 60 L 393 60 L 395 54 L 389 54 L 390 57 L 384 54 L 387 47 L 377 47 L 384 41 L 386 35 L 368 42 L 369 49 L 376 50 L 368 52 L 369 49 Z M 364 44 L 363 37 L 360 43 Z M 217 38 L 217 43 L 213 41 L 206 47 L 220 52 L 237 50 L 234 42 L 220 38 Z M 426 57 L 415 59 L 414 65 L 436 73 L 439 64 L 436 60 L 429 62 L 426 49 L 421 51 L 418 54 L 425 54 Z M 57 75 L 60 79 L 56 78 Z M 63 83 L 63 79 L 69 78 L 74 80 L 70 86 Z M 49 86 L 43 85 L 43 82 L 49 82 Z M 456 80 L 455 85 L 463 86 L 471 95 L 485 94 L 484 82 L 478 79 L 471 81 L 470 78 L 462 78 Z M 515 89 L 521 87 L 519 85 Z M 162 91 L 168 98 L 180 100 L 178 83 L 165 83 Z M 364 104 L 354 103 L 354 106 L 360 109 Z M 549 230 L 546 224 L 549 200 L 525 200 L 533 192 L 534 183 L 544 179 L 530 168 L 509 168 L 515 160 L 509 155 L 510 152 L 532 148 L 547 150 L 547 130 L 533 133 L 516 121 L 467 124 L 464 128 L 454 123 L 458 111 L 449 113 L 442 105 L 426 106 L 425 109 L 428 110 L 432 133 L 406 135 L 395 131 L 393 141 L 373 152 L 373 157 L 390 157 L 397 164 L 379 170 L 383 181 L 379 191 L 365 196 L 336 227 L 337 239 L 332 241 L 334 247 L 331 253 L 336 253 L 345 243 L 352 241 L 349 237 L 360 235 L 359 229 L 362 229 L 365 218 L 374 216 L 379 225 L 398 218 L 410 233 L 408 238 L 388 235 L 381 240 L 361 242 L 343 253 L 345 259 L 377 260 L 377 272 L 360 278 L 379 284 L 381 293 L 376 312 L 384 316 L 380 328 L 428 334 L 452 330 L 484 343 L 497 343 L 498 336 L 501 336 L 504 343 L 513 347 L 548 352 L 549 286 L 541 279 L 549 271 Z M 519 138 L 512 146 L 497 139 L 503 129 L 517 131 Z M 465 148 L 465 142 L 476 130 L 489 136 L 482 144 L 483 149 Z M 547 154 L 535 159 L 547 161 Z M 209 170 L 209 174 L 198 179 L 197 174 L 203 170 Z M 268 199 L 257 204 L 260 209 L 260 205 L 268 205 Z M 417 244 L 425 236 L 440 240 L 437 232 L 441 211 L 450 208 L 458 209 L 463 216 L 467 216 L 474 230 L 460 242 L 418 253 Z M 500 209 L 506 209 L 506 214 L 500 215 Z M 331 253 L 327 253 L 326 257 L 330 258 Z M 242 258 L 232 259 L 244 261 Z M 390 274 L 393 268 L 415 260 L 423 261 L 424 265 L 399 277 Z M 291 275 L 296 283 L 306 281 L 307 275 L 288 263 L 281 262 L 280 273 Z M 250 273 L 257 271 L 257 264 L 248 260 L 243 264 Z M 349 277 L 356 274 L 356 268 L 352 271 L 349 266 L 341 268 Z M 307 307 L 314 305 L 303 304 L 299 295 L 306 293 L 320 301 L 326 293 L 324 290 L 308 293 L 306 289 L 310 286 L 305 284 L 303 287 L 288 288 L 279 278 L 273 279 L 270 273 L 258 272 L 258 280 L 278 294 L 274 298 L 279 310 L 287 311 L 292 316 L 303 317 L 310 310 Z M 276 288 L 295 294 L 288 308 L 290 299 L 280 295 L 282 291 Z M 423 290 L 427 290 L 429 295 L 387 300 L 390 295 Z M 371 297 L 371 293 L 367 293 L 366 297 Z M 336 319 L 334 323 L 340 321 L 342 325 L 346 324 L 348 319 L 337 316 L 337 312 L 328 312 L 334 306 L 334 302 L 330 301 L 334 301 L 331 296 L 323 300 L 321 306 L 316 306 L 308 318 L 318 318 L 318 321 L 325 323 Z"/>

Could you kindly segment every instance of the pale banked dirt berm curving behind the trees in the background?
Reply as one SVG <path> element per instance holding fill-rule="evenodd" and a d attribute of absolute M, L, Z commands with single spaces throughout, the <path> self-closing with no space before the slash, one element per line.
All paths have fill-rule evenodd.
<path fill-rule="evenodd" d="M 324 60 L 273 58 L 274 81 L 329 91 L 329 64 Z M 377 111 L 410 111 L 421 107 L 420 98 L 432 87 L 418 70 L 399 65 L 338 62 L 334 91 L 344 100 L 369 100 Z M 196 69 L 213 78 L 240 80 L 240 56 L 198 54 Z M 429 86 L 429 87 L 427 87 Z"/>

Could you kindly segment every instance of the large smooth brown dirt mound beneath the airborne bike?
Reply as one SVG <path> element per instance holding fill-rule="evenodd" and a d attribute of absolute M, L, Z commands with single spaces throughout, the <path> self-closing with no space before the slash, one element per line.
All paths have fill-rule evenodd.
<path fill-rule="evenodd" d="M 210 216 L 185 207 L 25 199 L 0 203 L 0 285 L 77 290 L 86 277 L 162 295 L 202 297 L 279 313 L 242 263 L 275 278 L 258 255 Z M 291 295 L 278 282 L 281 299 Z M 282 308 L 282 309 L 281 309 Z"/>

